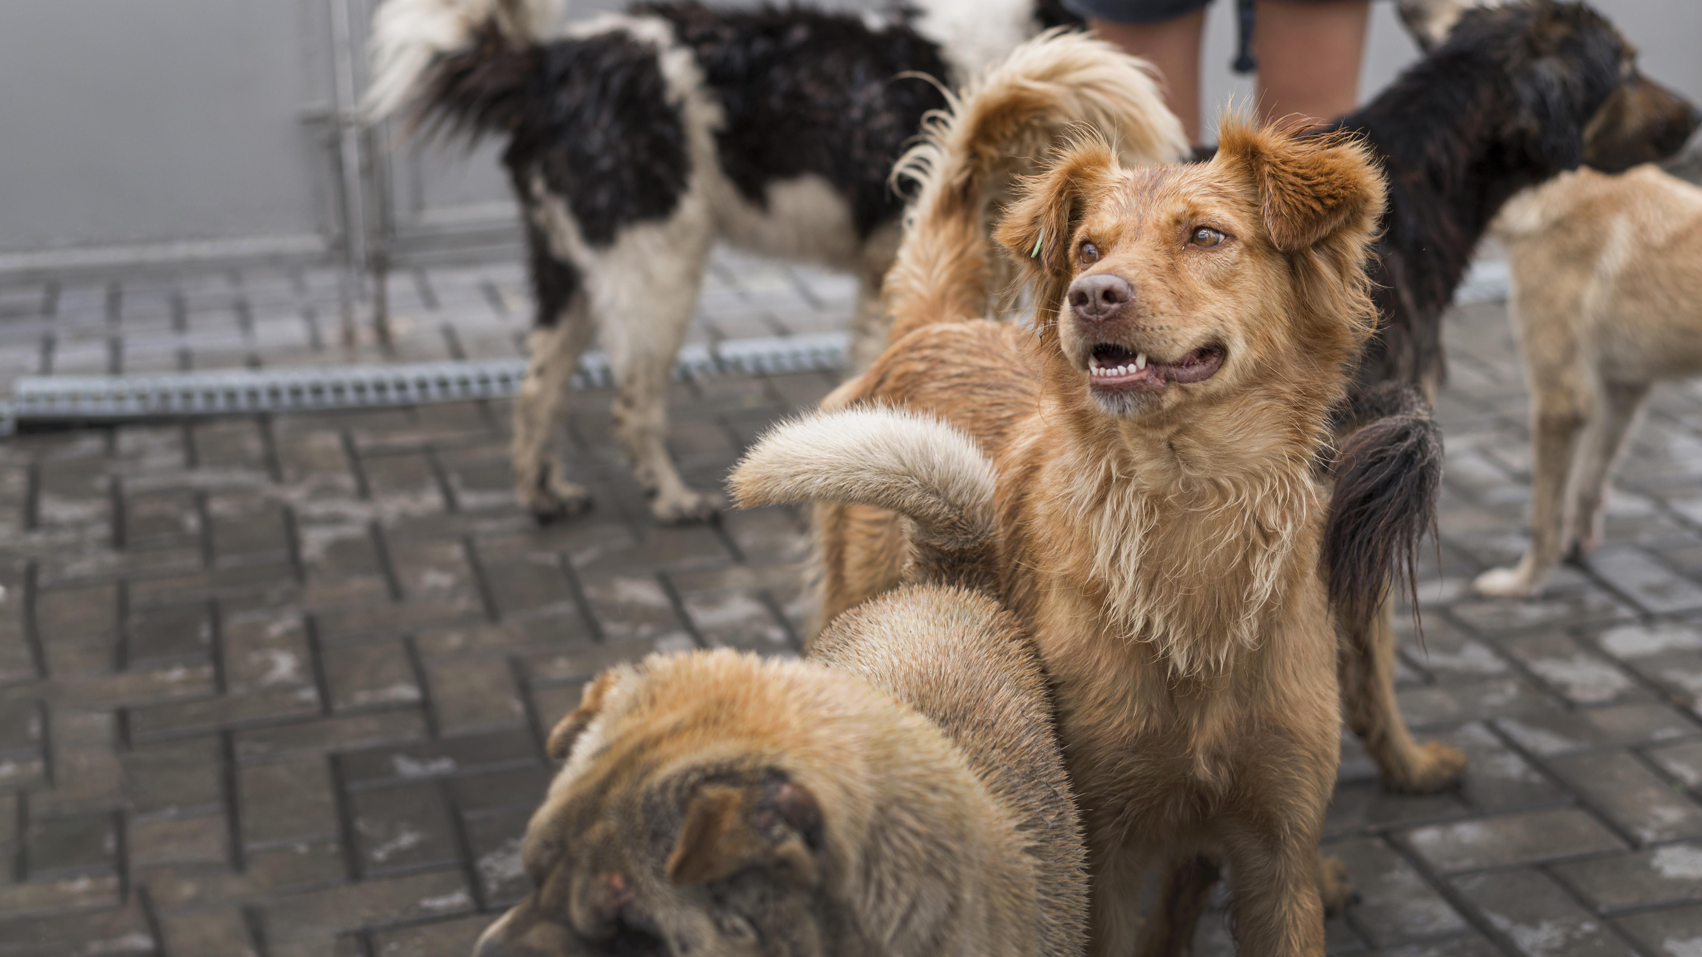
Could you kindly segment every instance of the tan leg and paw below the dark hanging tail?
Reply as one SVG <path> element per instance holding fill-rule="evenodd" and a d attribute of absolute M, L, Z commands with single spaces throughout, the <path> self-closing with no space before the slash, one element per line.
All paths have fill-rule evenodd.
<path fill-rule="evenodd" d="M 1343 635 L 1341 700 L 1348 727 L 1365 742 L 1385 790 L 1447 790 L 1459 783 L 1465 754 L 1440 741 L 1413 741 L 1394 696 L 1394 599 L 1385 598 L 1368 633 Z"/>

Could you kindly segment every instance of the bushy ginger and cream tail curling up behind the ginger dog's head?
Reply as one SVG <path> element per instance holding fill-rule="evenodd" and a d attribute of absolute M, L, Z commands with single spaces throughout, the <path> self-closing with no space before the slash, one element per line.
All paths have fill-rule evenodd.
<path fill-rule="evenodd" d="M 887 272 L 888 342 L 931 322 L 987 313 L 991 209 L 1072 131 L 1098 129 L 1130 162 L 1183 158 L 1188 140 L 1147 65 L 1057 27 L 1018 46 L 933 114 L 894 169 L 912 184 L 904 244 Z"/>

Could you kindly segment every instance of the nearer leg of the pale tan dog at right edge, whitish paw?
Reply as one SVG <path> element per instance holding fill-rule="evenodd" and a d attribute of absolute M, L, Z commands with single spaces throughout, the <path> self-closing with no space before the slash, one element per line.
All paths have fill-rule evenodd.
<path fill-rule="evenodd" d="M 1472 587 L 1479 594 L 1525 596 L 1542 589 L 1561 562 L 1566 533 L 1564 496 L 1578 451 L 1578 436 L 1593 415 L 1588 380 L 1532 370 L 1530 422 L 1530 547 L 1511 569 L 1489 569 Z"/>

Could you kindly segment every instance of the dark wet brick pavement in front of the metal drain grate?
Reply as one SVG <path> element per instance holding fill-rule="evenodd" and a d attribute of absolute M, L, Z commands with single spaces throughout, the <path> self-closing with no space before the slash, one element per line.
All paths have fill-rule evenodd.
<path fill-rule="evenodd" d="M 420 315 L 517 296 L 512 269 L 466 274 L 485 279 Z M 773 324 L 786 296 L 817 308 L 785 271 L 751 274 L 768 279 L 717 279 L 749 295 L 711 289 L 698 334 Z M 512 351 L 521 305 L 466 329 Z M 39 339 L 56 320 L 14 322 Z M 189 329 L 194 361 L 214 354 Z M 300 342 L 242 347 L 271 364 Z M 1348 742 L 1328 845 L 1363 899 L 1331 948 L 1702 957 L 1702 390 L 1658 390 L 1588 567 L 1537 601 L 1477 601 L 1471 576 L 1522 547 L 1525 398 L 1501 307 L 1457 310 L 1450 351 L 1442 543 L 1401 685 L 1471 780 L 1385 795 Z M 677 385 L 688 478 L 717 484 L 829 387 Z M 652 526 L 608 402 L 572 402 L 597 507 L 548 530 L 509 497 L 499 404 L 0 444 L 0 955 L 466 954 L 523 892 L 541 734 L 589 674 L 654 649 L 797 649 L 798 516 Z M 1220 914 L 1202 933 L 1225 950 Z"/>

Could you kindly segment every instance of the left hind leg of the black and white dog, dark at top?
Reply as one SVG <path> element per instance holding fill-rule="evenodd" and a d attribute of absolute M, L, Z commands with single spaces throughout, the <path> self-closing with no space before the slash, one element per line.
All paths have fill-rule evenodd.
<path fill-rule="evenodd" d="M 514 397 L 512 465 L 521 506 L 543 523 L 591 507 L 591 492 L 562 477 L 551 439 L 579 356 L 591 344 L 592 324 L 579 269 L 557 259 L 534 225 L 528 223 L 526 237 L 538 318 L 528 337 L 526 380 Z"/>

